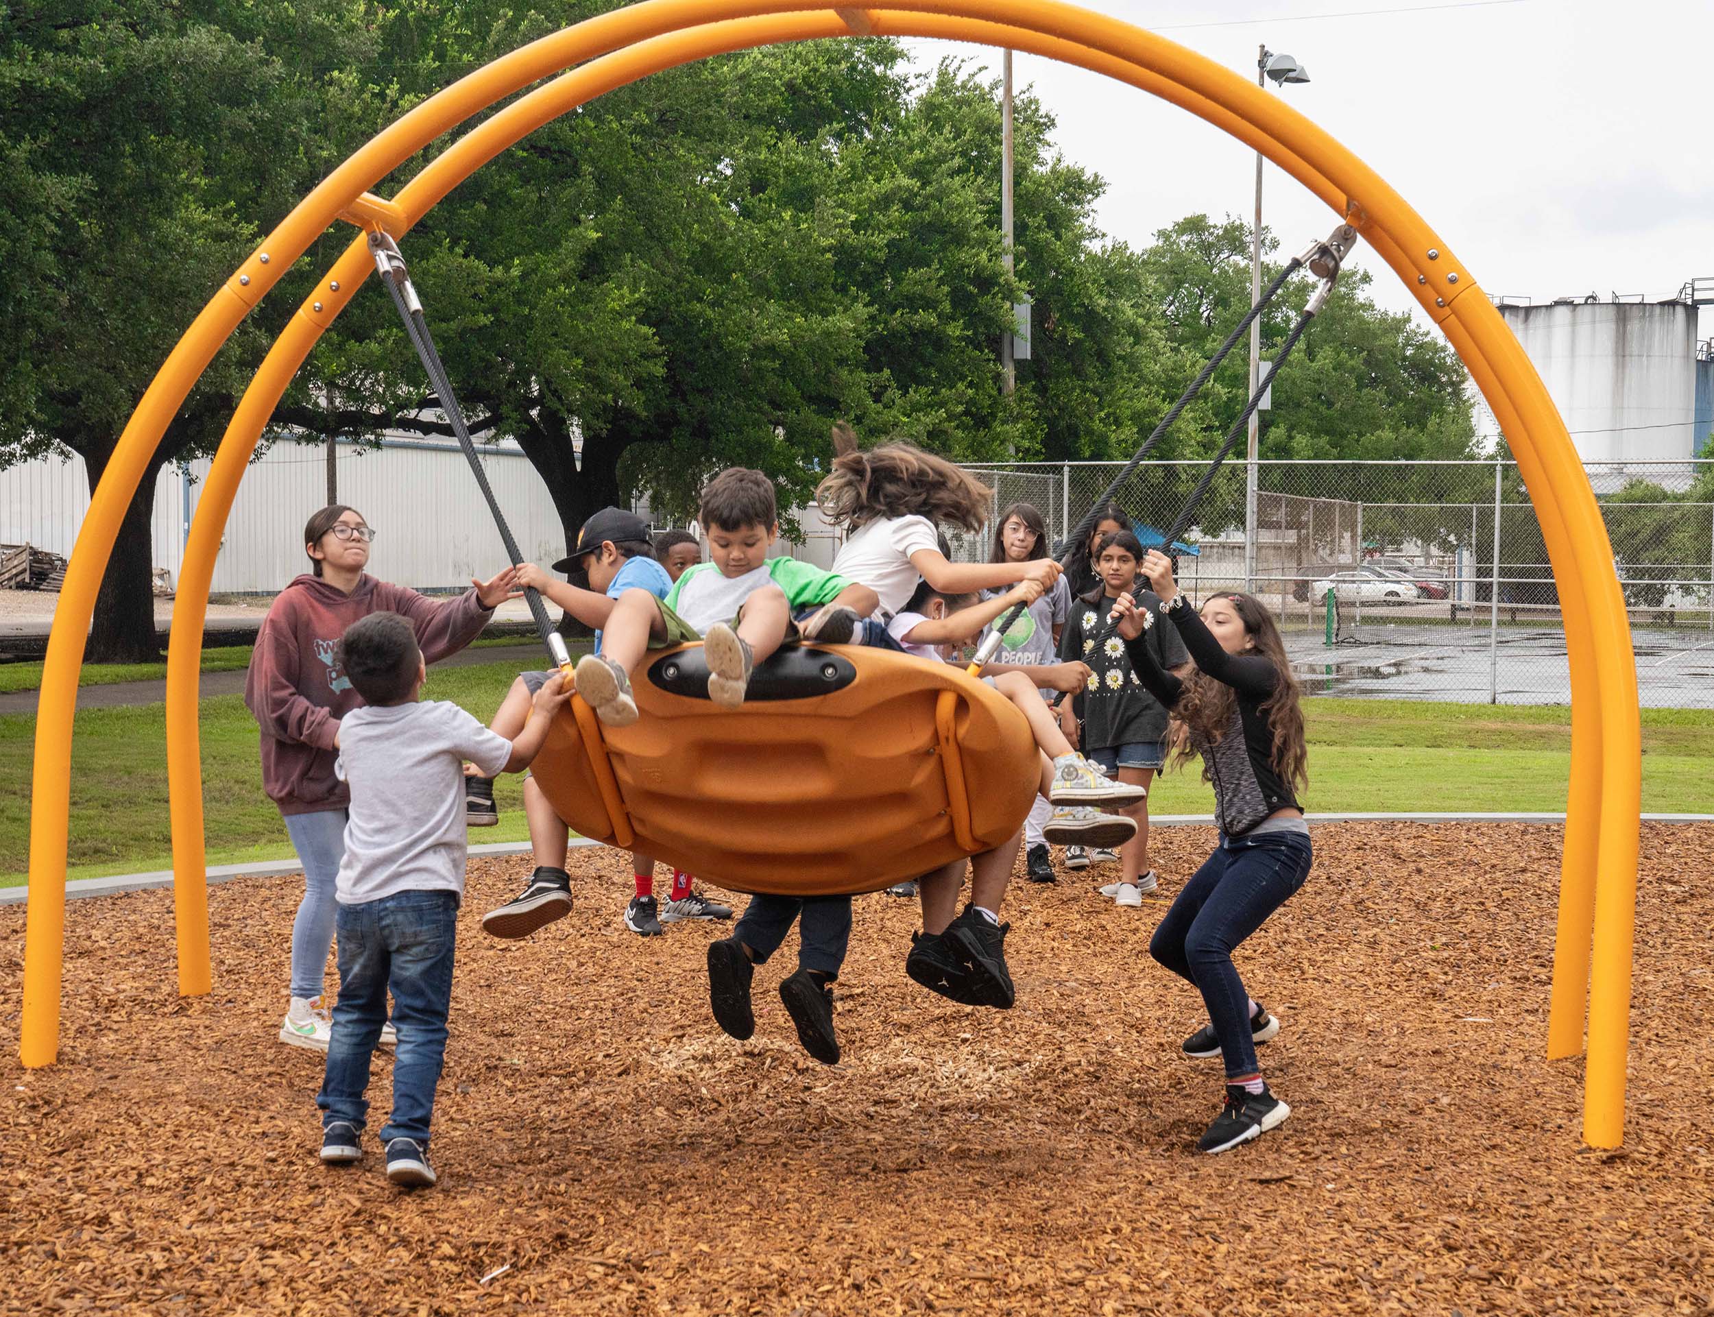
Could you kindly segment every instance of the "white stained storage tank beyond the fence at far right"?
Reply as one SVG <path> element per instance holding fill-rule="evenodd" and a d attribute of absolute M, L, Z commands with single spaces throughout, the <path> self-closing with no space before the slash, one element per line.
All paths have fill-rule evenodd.
<path fill-rule="evenodd" d="M 1501 305 L 1500 314 L 1541 372 L 1584 461 L 1693 456 L 1693 305 L 1561 300 Z"/>

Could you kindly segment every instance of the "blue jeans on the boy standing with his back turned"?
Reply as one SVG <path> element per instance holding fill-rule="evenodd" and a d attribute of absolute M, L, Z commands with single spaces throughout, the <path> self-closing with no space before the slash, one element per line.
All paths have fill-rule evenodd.
<path fill-rule="evenodd" d="M 381 1127 L 381 1142 L 428 1142 L 434 1091 L 446 1058 L 456 933 L 456 892 L 396 892 L 339 907 L 339 1001 L 333 1008 L 327 1077 L 315 1098 L 322 1128 L 336 1120 L 363 1128 L 369 1058 L 387 1019 L 391 988 L 399 1046 L 393 1061 L 393 1115 Z"/>

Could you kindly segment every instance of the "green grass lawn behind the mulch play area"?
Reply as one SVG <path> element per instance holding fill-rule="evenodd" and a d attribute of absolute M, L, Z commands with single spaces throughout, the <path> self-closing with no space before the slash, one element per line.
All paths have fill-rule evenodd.
<path fill-rule="evenodd" d="M 437 669 L 428 695 L 487 722 L 514 664 Z M 1563 809 L 1570 770 L 1565 708 L 1441 705 L 1407 700 L 1306 700 L 1309 791 L 1316 811 Z M 33 715 L 0 717 L 0 885 L 24 881 L 29 854 Z M 238 696 L 202 701 L 202 782 L 211 864 L 290 857 L 286 830 L 262 796 L 255 722 Z M 1642 712 L 1642 808 L 1714 813 L 1714 712 Z M 161 705 L 77 715 L 72 755 L 74 878 L 171 868 L 166 820 L 166 736 Z M 518 777 L 495 787 L 502 821 L 476 842 L 524 840 Z M 17 784 L 17 787 L 10 787 Z M 14 806 L 15 803 L 15 806 Z M 1195 770 L 1167 773 L 1150 792 L 1162 815 L 1208 813 L 1214 796 Z"/>

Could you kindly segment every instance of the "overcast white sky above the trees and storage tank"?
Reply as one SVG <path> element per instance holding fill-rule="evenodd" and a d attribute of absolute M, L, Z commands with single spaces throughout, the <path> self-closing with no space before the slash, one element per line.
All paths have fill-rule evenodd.
<path fill-rule="evenodd" d="M 1392 14 L 1371 10 L 1431 0 L 1082 3 L 1246 77 L 1258 43 L 1294 55 L 1311 82 L 1277 94 L 1416 206 L 1489 293 L 1656 300 L 1714 276 L 1714 0 Z M 999 74 L 999 51 L 908 45 L 926 69 L 956 50 Z M 1016 57 L 1015 77 L 1058 117 L 1064 154 L 1107 180 L 1100 223 L 1111 235 L 1140 245 L 1196 211 L 1250 214 L 1255 154 L 1200 118 L 1034 55 Z M 1263 221 L 1284 245 L 1325 237 L 1330 220 L 1267 166 Z M 1381 262 L 1366 266 L 1378 302 L 1414 305 Z M 1709 334 L 1714 307 L 1702 310 Z"/>

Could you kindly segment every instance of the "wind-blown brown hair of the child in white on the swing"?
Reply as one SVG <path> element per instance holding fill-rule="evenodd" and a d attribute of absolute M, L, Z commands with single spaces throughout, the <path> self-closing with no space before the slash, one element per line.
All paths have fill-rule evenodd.
<path fill-rule="evenodd" d="M 850 425 L 833 427 L 833 472 L 816 485 L 821 513 L 854 530 L 883 516 L 926 516 L 934 525 L 980 530 L 994 490 L 946 458 L 895 439 L 867 453 Z"/>

